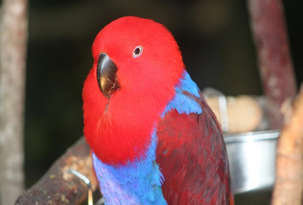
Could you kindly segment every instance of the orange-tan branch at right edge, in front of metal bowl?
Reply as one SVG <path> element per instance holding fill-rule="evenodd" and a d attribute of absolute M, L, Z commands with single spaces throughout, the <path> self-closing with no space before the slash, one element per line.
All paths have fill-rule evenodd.
<path fill-rule="evenodd" d="M 278 140 L 273 205 L 302 204 L 303 194 L 303 83 L 291 105 L 283 104 L 285 124 Z"/>

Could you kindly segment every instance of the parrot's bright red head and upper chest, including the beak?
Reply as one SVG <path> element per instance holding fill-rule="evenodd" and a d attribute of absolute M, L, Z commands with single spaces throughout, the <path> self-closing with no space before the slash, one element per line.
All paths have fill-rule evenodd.
<path fill-rule="evenodd" d="M 82 93 L 87 142 L 109 164 L 140 159 L 184 70 L 178 44 L 162 24 L 128 16 L 98 33 L 92 55 Z"/>

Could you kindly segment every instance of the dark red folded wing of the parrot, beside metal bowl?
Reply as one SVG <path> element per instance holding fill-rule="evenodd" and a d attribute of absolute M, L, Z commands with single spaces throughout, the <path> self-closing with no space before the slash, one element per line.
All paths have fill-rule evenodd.
<path fill-rule="evenodd" d="M 168 204 L 233 204 L 228 158 L 214 113 L 200 91 L 201 113 L 165 113 L 158 123 L 156 162 L 164 175 L 162 192 Z"/>

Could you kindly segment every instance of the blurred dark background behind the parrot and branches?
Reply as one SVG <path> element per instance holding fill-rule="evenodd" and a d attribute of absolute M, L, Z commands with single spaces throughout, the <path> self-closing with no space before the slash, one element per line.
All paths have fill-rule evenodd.
<path fill-rule="evenodd" d="M 303 1 L 283 1 L 296 72 L 303 80 Z M 106 24 L 134 15 L 175 36 L 192 79 L 226 95 L 261 95 L 245 1 L 30 0 L 25 113 L 26 187 L 83 135 L 82 83 Z"/>

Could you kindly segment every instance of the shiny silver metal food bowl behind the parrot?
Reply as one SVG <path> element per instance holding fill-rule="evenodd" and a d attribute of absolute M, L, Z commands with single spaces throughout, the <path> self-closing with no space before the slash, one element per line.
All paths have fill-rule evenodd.
<path fill-rule="evenodd" d="M 234 194 L 271 189 L 280 130 L 225 134 Z"/>

